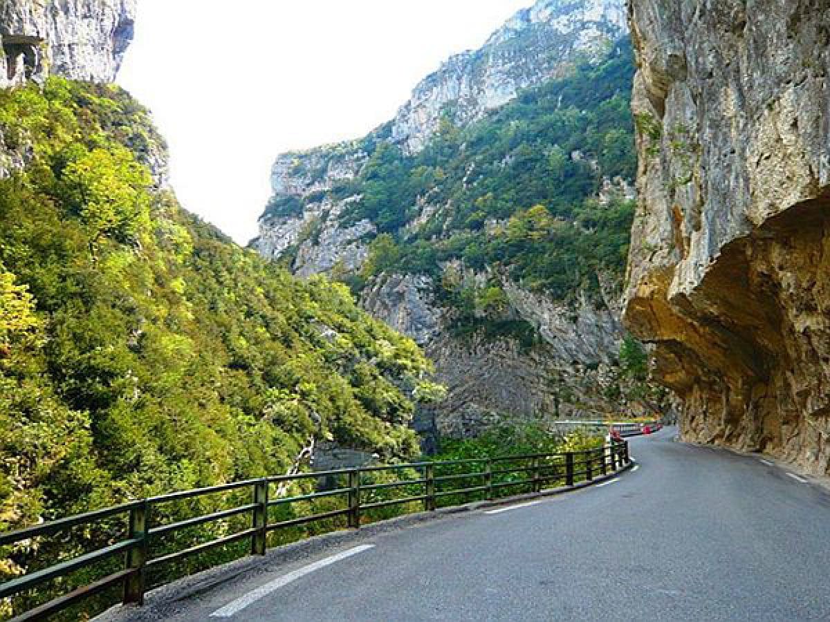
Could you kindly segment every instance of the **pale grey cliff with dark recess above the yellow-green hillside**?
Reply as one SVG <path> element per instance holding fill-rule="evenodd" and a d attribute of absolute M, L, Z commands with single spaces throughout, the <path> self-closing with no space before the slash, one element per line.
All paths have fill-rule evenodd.
<path fill-rule="evenodd" d="M 49 73 L 114 81 L 134 18 L 135 0 L 0 0 L 0 88 Z"/>

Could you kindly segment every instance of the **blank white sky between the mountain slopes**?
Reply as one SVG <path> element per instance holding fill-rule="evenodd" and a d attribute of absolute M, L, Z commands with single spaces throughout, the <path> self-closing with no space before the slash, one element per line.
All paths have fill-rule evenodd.
<path fill-rule="evenodd" d="M 141 0 L 119 83 L 168 138 L 183 206 L 240 244 L 278 153 L 358 138 L 533 0 Z"/>

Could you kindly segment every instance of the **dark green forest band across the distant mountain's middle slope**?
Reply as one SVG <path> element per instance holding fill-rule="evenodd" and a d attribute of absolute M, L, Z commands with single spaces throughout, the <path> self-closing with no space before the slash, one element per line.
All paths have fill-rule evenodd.
<path fill-rule="evenodd" d="M 359 277 L 389 270 L 438 277 L 442 262 L 461 259 L 472 270 L 504 267 L 530 289 L 564 299 L 596 291 L 598 272 L 621 275 L 632 202 L 600 204 L 597 196 L 603 178 L 636 171 L 632 75 L 631 46 L 621 43 L 598 66 L 585 61 L 469 128 L 446 119 L 417 155 L 388 142 L 390 125 L 364 139 L 367 163 L 331 191 L 334 201 L 360 197 L 341 226 L 366 219 L 380 234 Z M 315 165 L 294 173 L 322 179 L 330 160 Z M 321 198 L 277 196 L 265 218 L 301 214 Z M 440 207 L 424 213 L 425 204 Z M 291 251 L 303 242 L 283 257 L 295 259 Z"/>

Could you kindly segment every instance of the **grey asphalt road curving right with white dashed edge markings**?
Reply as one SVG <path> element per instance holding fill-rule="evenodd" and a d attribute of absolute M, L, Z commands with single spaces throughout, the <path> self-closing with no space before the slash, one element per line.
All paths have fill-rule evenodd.
<path fill-rule="evenodd" d="M 674 435 L 632 440 L 639 468 L 602 488 L 358 534 L 111 619 L 830 620 L 830 496 Z"/>

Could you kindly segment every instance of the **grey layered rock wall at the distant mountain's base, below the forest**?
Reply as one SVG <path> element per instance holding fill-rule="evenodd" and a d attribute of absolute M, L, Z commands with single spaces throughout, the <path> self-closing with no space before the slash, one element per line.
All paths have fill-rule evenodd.
<path fill-rule="evenodd" d="M 445 270 L 458 270 L 455 264 Z M 470 284 L 486 284 L 493 275 L 466 271 Z M 504 333 L 465 334 L 452 312 L 434 297 L 425 275 L 383 275 L 364 293 L 362 305 L 401 333 L 414 338 L 436 363 L 447 386 L 445 403 L 432 408 L 421 434 L 426 447 L 434 436 L 476 435 L 510 415 L 519 419 L 604 416 L 619 396 L 618 352 L 623 341 L 618 295 L 554 302 L 502 279 L 507 306 L 500 315 L 525 327 L 530 342 Z M 632 401 L 632 412 L 647 414 Z M 649 413 L 651 411 L 648 411 Z"/>

